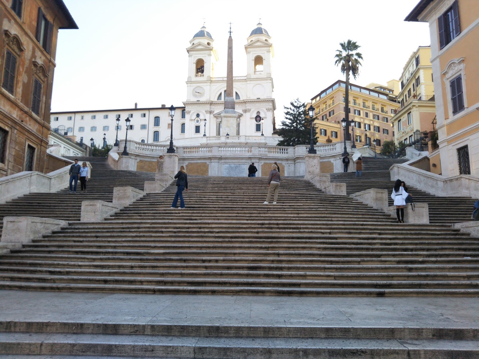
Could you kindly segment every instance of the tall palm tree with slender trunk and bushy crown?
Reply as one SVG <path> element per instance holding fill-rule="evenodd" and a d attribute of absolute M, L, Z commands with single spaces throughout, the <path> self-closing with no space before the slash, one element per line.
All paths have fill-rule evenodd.
<path fill-rule="evenodd" d="M 340 43 L 341 50 L 336 50 L 337 54 L 334 56 L 336 61 L 334 65 L 339 66 L 341 65 L 341 72 L 342 74 L 346 75 L 346 100 L 344 103 L 344 113 L 346 119 L 346 128 L 348 131 L 346 132 L 346 140 L 351 140 L 351 136 L 349 134 L 349 74 L 351 73 L 356 79 L 359 74 L 359 67 L 361 66 L 361 61 L 363 59 L 363 55 L 359 52 L 354 53 L 357 51 L 361 46 L 358 45 L 355 41 L 351 41 L 348 39 L 345 43 Z"/>

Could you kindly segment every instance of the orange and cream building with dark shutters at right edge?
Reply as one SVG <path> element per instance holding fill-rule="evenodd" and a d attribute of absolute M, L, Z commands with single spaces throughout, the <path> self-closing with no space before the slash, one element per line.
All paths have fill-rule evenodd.
<path fill-rule="evenodd" d="M 442 174 L 479 176 L 478 1 L 421 0 L 405 21 L 429 23 Z"/>

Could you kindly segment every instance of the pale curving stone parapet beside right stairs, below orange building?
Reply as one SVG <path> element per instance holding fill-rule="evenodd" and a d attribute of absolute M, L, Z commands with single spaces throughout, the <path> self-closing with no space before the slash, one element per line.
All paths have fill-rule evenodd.
<path fill-rule="evenodd" d="M 439 197 L 478 197 L 479 178 L 471 175 L 459 175 L 447 178 L 420 168 L 409 166 L 410 163 L 416 161 L 417 160 L 411 160 L 406 163 L 392 165 L 389 168 L 391 180 L 399 178 L 408 185 Z"/>

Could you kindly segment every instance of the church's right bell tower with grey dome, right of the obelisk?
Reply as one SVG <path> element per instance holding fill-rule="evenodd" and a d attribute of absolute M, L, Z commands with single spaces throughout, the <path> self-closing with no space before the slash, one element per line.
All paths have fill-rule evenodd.
<path fill-rule="evenodd" d="M 274 56 L 271 36 L 262 23 L 258 22 L 244 45 L 247 65 L 247 78 L 271 78 L 271 64 Z"/>

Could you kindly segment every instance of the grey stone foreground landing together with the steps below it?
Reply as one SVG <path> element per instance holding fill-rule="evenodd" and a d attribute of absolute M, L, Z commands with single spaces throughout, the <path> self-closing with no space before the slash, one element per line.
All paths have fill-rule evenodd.
<path fill-rule="evenodd" d="M 472 359 L 478 337 L 470 297 L 0 291 L 1 359 L 297 358 L 298 347 L 301 358 Z"/>

